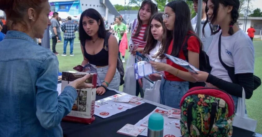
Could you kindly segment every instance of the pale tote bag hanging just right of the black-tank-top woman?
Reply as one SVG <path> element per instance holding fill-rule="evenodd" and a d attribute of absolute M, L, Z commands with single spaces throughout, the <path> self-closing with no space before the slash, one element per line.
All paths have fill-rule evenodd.
<path fill-rule="evenodd" d="M 135 56 L 130 55 L 125 69 L 125 78 L 124 78 L 125 83 L 123 86 L 123 92 L 133 96 L 136 95 L 136 79 L 135 79 L 134 63 L 135 63 Z"/>

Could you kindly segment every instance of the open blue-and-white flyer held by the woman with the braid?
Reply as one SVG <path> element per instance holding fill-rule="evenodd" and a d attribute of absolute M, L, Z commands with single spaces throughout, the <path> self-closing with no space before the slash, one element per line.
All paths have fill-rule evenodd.
<path fill-rule="evenodd" d="M 194 67 L 193 65 L 191 65 L 190 63 L 188 63 L 186 60 L 183 59 L 179 59 L 177 57 L 173 57 L 171 55 L 165 54 L 167 56 L 168 59 L 170 59 L 173 63 L 187 69 L 188 71 L 198 74 L 197 71 L 200 71 L 199 69 L 197 69 L 196 67 Z"/>

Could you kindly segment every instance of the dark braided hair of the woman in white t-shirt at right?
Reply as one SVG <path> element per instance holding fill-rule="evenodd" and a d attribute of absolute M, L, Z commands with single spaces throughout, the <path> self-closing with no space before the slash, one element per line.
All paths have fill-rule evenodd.
<path fill-rule="evenodd" d="M 211 2 L 214 4 L 213 14 L 211 15 L 211 20 L 210 20 L 211 35 L 216 34 L 221 29 L 220 26 L 219 26 L 219 29 L 217 31 L 213 31 L 212 27 L 211 27 L 211 24 L 213 24 L 216 21 L 219 3 L 221 3 L 223 6 L 232 6 L 233 7 L 232 11 L 231 11 L 232 20 L 229 23 L 230 27 L 229 27 L 229 31 L 228 31 L 228 34 L 233 35 L 234 31 L 233 31 L 232 26 L 236 23 L 237 19 L 239 18 L 239 13 L 238 13 L 238 9 L 240 7 L 239 0 L 211 0 Z M 207 12 L 208 12 L 208 8 L 207 8 L 207 1 L 206 1 L 206 22 L 204 23 L 204 26 L 203 26 L 203 34 L 204 34 L 204 30 L 205 30 L 204 28 L 209 21 Z"/>

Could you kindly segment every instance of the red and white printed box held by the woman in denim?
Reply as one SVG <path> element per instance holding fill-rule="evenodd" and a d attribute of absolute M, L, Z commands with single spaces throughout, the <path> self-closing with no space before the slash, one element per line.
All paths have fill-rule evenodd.
<path fill-rule="evenodd" d="M 90 74 L 85 82 L 94 85 L 93 88 L 76 89 L 78 97 L 75 100 L 72 111 L 65 116 L 62 120 L 72 121 L 78 123 L 91 124 L 95 120 L 95 95 L 96 95 L 96 73 L 85 73 L 85 72 L 74 72 L 67 71 L 62 72 L 62 85 L 61 92 L 63 92 L 65 86 L 67 86 L 71 81 L 77 78 L 81 78 L 86 74 Z"/>

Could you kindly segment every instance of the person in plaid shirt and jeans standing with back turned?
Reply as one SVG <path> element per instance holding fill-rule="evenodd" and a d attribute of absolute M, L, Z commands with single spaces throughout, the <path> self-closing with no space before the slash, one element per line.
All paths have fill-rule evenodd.
<path fill-rule="evenodd" d="M 64 53 L 62 56 L 66 56 L 66 46 L 68 41 L 70 42 L 70 56 L 74 56 L 73 45 L 77 28 L 78 25 L 71 21 L 71 17 L 67 17 L 67 21 L 61 25 L 61 30 L 64 32 Z"/>

